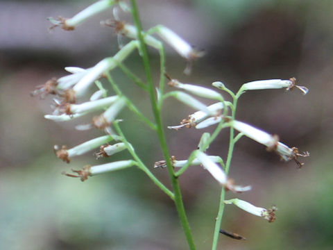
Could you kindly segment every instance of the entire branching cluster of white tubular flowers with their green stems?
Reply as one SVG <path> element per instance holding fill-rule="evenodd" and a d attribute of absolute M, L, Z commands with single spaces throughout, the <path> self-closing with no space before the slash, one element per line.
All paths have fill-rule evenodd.
<path fill-rule="evenodd" d="M 135 6 L 135 1 L 132 1 L 133 6 Z M 278 135 L 272 135 L 266 133 L 262 129 L 256 128 L 250 124 L 244 122 L 239 122 L 235 117 L 237 110 L 237 101 L 241 94 L 244 94 L 248 90 L 266 90 L 266 89 L 280 89 L 286 88 L 286 90 L 293 90 L 295 88 L 299 89 L 302 94 L 307 94 L 309 91 L 303 86 L 296 85 L 296 78 L 289 78 L 288 80 L 282 79 L 272 79 L 264 81 L 252 81 L 241 85 L 237 93 L 232 92 L 221 81 L 215 81 L 212 86 L 218 90 L 212 90 L 200 85 L 195 85 L 192 83 L 182 83 L 176 78 L 171 78 L 165 72 L 164 65 L 164 43 L 172 47 L 176 53 L 178 53 L 182 58 L 187 61 L 187 67 L 185 69 L 185 74 L 189 74 L 191 70 L 191 62 L 195 58 L 203 56 L 202 51 L 198 51 L 191 47 L 191 45 L 181 38 L 178 34 L 171 31 L 171 29 L 157 25 L 148 31 L 142 31 L 138 21 L 135 22 L 135 26 L 132 24 L 127 24 L 122 22 L 117 11 L 119 8 L 124 12 L 128 12 L 130 8 L 125 2 L 121 0 L 101 0 L 92 4 L 85 10 L 82 10 L 74 17 L 69 19 L 60 17 L 59 19 L 50 18 L 49 20 L 53 23 L 51 28 L 55 26 L 60 26 L 66 31 L 73 31 L 76 26 L 85 22 L 96 15 L 97 13 L 106 10 L 108 8 L 113 8 L 114 19 L 108 19 L 101 22 L 104 26 L 112 26 L 115 29 L 119 38 L 119 51 L 110 56 L 104 58 L 99 63 L 93 67 L 83 69 L 80 67 L 65 67 L 65 70 L 70 74 L 67 76 L 62 76 L 61 78 L 51 78 L 44 85 L 37 86 L 37 89 L 33 91 L 32 95 L 40 94 L 40 97 L 44 98 L 46 95 L 51 94 L 55 96 L 53 98 L 53 113 L 50 115 L 45 115 L 46 119 L 51 119 L 55 122 L 66 122 L 76 119 L 78 117 L 88 116 L 92 113 L 98 113 L 93 116 L 89 124 L 76 126 L 78 130 L 86 130 L 88 128 L 98 128 L 105 133 L 98 138 L 93 138 L 92 140 L 87 140 L 82 144 L 75 147 L 67 149 L 64 145 L 62 147 L 54 146 L 54 151 L 56 156 L 63 160 L 65 163 L 70 163 L 71 159 L 75 156 L 81 156 L 88 151 L 94 149 L 100 149 L 99 152 L 95 153 L 96 158 L 110 157 L 115 153 L 120 151 L 128 151 L 132 156 L 131 159 L 111 161 L 110 163 L 102 165 L 86 165 L 83 169 L 72 170 L 72 174 L 64 172 L 66 176 L 80 178 L 81 181 L 87 180 L 89 176 L 94 176 L 96 174 L 102 174 L 105 172 L 111 172 L 118 169 L 124 169 L 127 167 L 137 166 L 142 169 L 145 174 L 162 190 L 164 191 L 173 201 L 175 201 L 178 208 L 178 213 L 180 213 L 180 219 L 182 220 L 182 225 L 188 227 L 187 218 L 185 215 L 185 209 L 182 205 L 182 198 L 179 192 L 178 177 L 184 173 L 189 167 L 194 165 L 201 165 L 203 169 L 210 173 L 212 178 L 217 184 L 221 186 L 221 202 L 219 211 L 223 211 L 224 204 L 234 204 L 239 208 L 257 215 L 259 217 L 264 217 L 268 222 L 273 222 L 275 220 L 275 206 L 269 209 L 259 208 L 253 206 L 247 201 L 242 201 L 240 199 L 230 199 L 224 200 L 224 191 L 230 190 L 231 192 L 245 192 L 251 190 L 249 185 L 241 186 L 235 185 L 232 178 L 229 177 L 230 162 L 232 158 L 232 151 L 234 149 L 234 144 L 242 137 L 246 136 L 255 142 L 263 144 L 268 151 L 274 151 L 278 153 L 280 158 L 284 161 L 294 160 L 298 167 L 302 167 L 303 163 L 298 160 L 299 157 L 309 156 L 309 152 L 300 153 L 296 147 L 288 147 L 287 145 L 280 142 Z M 135 7 L 136 8 L 136 7 Z M 133 19 L 138 16 L 133 10 Z M 153 35 L 157 35 L 155 38 Z M 130 42 L 123 45 L 120 38 L 121 36 L 126 36 L 130 39 Z M 148 68 L 148 56 L 146 55 L 145 46 L 152 47 L 160 53 L 160 85 L 155 86 L 151 80 L 151 75 Z M 124 61 L 128 56 L 130 56 L 133 51 L 138 51 L 140 56 L 144 59 L 144 66 L 146 67 L 147 81 L 142 82 L 139 77 L 135 76 L 130 69 L 127 69 L 123 65 Z M 121 88 L 118 87 L 112 79 L 111 73 L 112 69 L 120 68 L 123 72 L 131 78 L 140 88 L 149 94 L 151 99 L 151 105 L 155 117 L 155 123 L 143 115 L 140 110 L 135 106 L 135 103 L 128 99 L 122 92 Z M 107 78 L 112 86 L 114 94 L 108 95 L 107 90 L 103 88 L 103 79 Z M 176 90 L 165 92 L 164 81 L 165 78 L 169 80 L 167 88 L 175 88 Z M 92 88 L 97 87 L 92 93 Z M 155 92 L 156 89 L 156 92 Z M 232 101 L 225 101 L 223 95 L 220 93 L 222 90 L 230 94 Z M 193 108 L 194 113 L 188 115 L 187 118 L 182 119 L 179 125 L 168 126 L 168 128 L 173 130 L 179 130 L 180 128 L 196 128 L 204 129 L 209 126 L 217 125 L 214 133 L 203 133 L 198 143 L 198 147 L 191 152 L 189 158 L 185 160 L 176 160 L 175 156 L 169 154 L 169 149 L 167 147 L 167 142 L 164 135 L 164 130 L 162 127 L 162 105 L 165 99 L 173 97 L 178 101 L 184 103 L 185 105 Z M 210 105 L 205 104 L 204 101 L 199 101 L 196 97 L 201 99 L 208 99 L 212 101 Z M 142 122 L 146 123 L 154 132 L 157 133 L 157 137 L 160 140 L 162 151 L 164 153 L 164 160 L 160 160 L 155 163 L 155 168 L 166 167 L 169 172 L 169 176 L 172 181 L 173 190 L 178 190 L 177 192 L 172 192 L 167 187 L 165 187 L 150 171 L 149 167 L 144 165 L 139 156 L 135 153 L 135 149 L 126 139 L 126 136 L 121 131 L 118 119 L 118 115 L 127 107 L 132 111 Z M 214 142 L 217 136 L 221 133 L 223 128 L 230 129 L 230 144 L 227 160 L 223 161 L 220 156 L 210 156 L 207 150 L 210 144 Z M 234 131 L 238 131 L 237 135 L 234 135 Z M 110 144 L 114 142 L 113 144 Z M 176 171 L 177 170 L 177 171 Z M 224 200 L 224 201 L 223 201 Z M 219 213 L 221 216 L 222 213 Z M 221 224 L 221 217 L 216 218 L 216 228 L 214 238 L 216 234 L 219 235 L 223 233 L 229 237 L 235 239 L 245 239 L 237 234 L 228 233 L 228 231 L 219 230 Z M 186 230 L 185 230 L 186 231 Z M 189 228 L 188 228 L 189 231 Z M 217 240 L 216 240 L 217 242 Z"/>

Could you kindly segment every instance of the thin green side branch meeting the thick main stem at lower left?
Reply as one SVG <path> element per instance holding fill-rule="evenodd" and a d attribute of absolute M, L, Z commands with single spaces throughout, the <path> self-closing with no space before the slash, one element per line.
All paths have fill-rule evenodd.
<path fill-rule="evenodd" d="M 154 175 L 153 173 L 151 173 L 151 171 L 148 169 L 148 167 L 146 167 L 146 165 L 144 165 L 144 163 L 142 162 L 142 160 L 139 158 L 139 156 L 137 156 L 137 153 L 135 153 L 132 144 L 130 144 L 130 142 L 128 142 L 128 140 L 126 140 L 125 135 L 123 135 L 123 132 L 121 131 L 121 128 L 118 124 L 118 122 L 114 122 L 114 128 L 116 128 L 117 133 L 119 134 L 119 136 L 121 137 L 121 141 L 123 143 L 126 144 L 126 148 L 128 149 L 128 151 L 130 152 L 130 154 L 133 156 L 133 158 L 135 159 L 135 161 L 137 162 L 137 166 L 139 167 L 139 169 L 142 169 L 143 172 L 145 172 L 147 174 L 147 176 L 149 178 L 151 178 L 151 180 L 153 181 L 153 183 L 155 183 L 157 185 L 157 187 L 159 187 L 163 192 L 165 192 L 172 200 L 175 199 L 175 195 L 165 186 L 163 185 L 163 183 L 161 183 Z"/>

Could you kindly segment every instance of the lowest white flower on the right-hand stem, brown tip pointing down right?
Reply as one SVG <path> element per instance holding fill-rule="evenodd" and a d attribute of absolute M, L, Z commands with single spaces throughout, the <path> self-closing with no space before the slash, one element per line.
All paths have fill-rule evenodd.
<path fill-rule="evenodd" d="M 234 204 L 248 213 L 257 215 L 259 217 L 264 217 L 264 219 L 268 220 L 268 222 L 275 221 L 276 208 L 274 206 L 269 209 L 259 208 L 259 207 L 253 206 L 251 203 L 248 203 L 247 201 L 242 201 L 240 199 L 230 199 L 228 201 L 223 201 L 223 202 L 225 204 Z"/>

